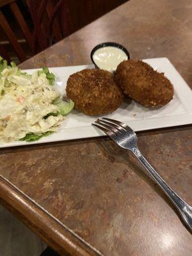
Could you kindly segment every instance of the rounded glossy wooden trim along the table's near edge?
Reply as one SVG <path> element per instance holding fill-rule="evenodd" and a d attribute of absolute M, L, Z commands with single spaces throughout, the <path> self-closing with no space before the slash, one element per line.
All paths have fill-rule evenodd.
<path fill-rule="evenodd" d="M 28 225 L 60 255 L 102 255 L 49 212 L 0 175 L 0 203 Z"/>

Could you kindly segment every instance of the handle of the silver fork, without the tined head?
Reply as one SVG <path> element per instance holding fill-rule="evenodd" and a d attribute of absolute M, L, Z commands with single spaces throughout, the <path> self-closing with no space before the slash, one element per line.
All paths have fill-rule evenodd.
<path fill-rule="evenodd" d="M 152 179 L 156 182 L 157 185 L 163 189 L 164 193 L 172 200 L 175 207 L 180 212 L 180 215 L 182 216 L 183 220 L 186 222 L 188 227 L 192 230 L 192 207 L 191 205 L 188 205 L 182 198 L 180 198 L 175 191 L 173 191 L 172 188 L 161 178 L 161 176 L 154 170 L 154 168 L 148 163 L 148 161 L 145 159 L 145 157 L 141 154 L 140 150 L 138 148 L 134 148 L 132 150 L 134 155 L 140 160 L 140 162 L 145 166 L 147 169 L 148 174 Z"/>

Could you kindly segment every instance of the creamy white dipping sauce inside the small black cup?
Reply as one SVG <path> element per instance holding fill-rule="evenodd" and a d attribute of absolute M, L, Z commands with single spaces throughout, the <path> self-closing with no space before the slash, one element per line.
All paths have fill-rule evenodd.
<path fill-rule="evenodd" d="M 122 49 L 113 46 L 99 48 L 93 54 L 93 60 L 97 67 L 113 72 L 119 63 L 127 60 L 127 55 Z"/>

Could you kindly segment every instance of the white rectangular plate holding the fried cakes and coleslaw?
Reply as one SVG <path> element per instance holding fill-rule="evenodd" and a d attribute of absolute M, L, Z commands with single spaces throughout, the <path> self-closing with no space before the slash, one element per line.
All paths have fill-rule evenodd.
<path fill-rule="evenodd" d="M 104 115 L 128 124 L 134 131 L 145 131 L 163 127 L 186 125 L 192 123 L 192 92 L 188 84 L 182 79 L 172 63 L 167 58 L 154 58 L 143 60 L 159 72 L 170 79 L 174 86 L 174 97 L 170 103 L 162 108 L 145 108 L 132 100 L 131 104 L 124 102 L 115 112 Z M 49 68 L 56 75 L 56 88 L 65 95 L 65 86 L 70 74 L 84 68 L 92 68 L 92 65 L 81 65 L 73 67 Z M 25 70 L 32 73 L 36 69 Z M 80 138 L 90 138 L 103 136 L 104 134 L 95 129 L 92 123 L 98 116 L 86 116 L 73 110 L 63 121 L 57 132 L 32 143 L 25 141 L 14 141 L 0 145 L 3 147 L 13 147 L 36 143 L 47 143 L 53 141 L 75 140 Z"/>

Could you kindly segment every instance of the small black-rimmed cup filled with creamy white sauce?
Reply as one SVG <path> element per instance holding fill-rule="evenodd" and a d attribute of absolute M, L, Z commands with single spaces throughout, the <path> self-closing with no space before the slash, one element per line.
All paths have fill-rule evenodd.
<path fill-rule="evenodd" d="M 96 68 L 115 72 L 119 63 L 124 60 L 130 60 L 130 55 L 124 46 L 106 42 L 93 48 L 91 59 Z"/>

